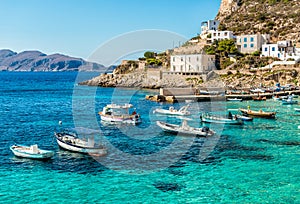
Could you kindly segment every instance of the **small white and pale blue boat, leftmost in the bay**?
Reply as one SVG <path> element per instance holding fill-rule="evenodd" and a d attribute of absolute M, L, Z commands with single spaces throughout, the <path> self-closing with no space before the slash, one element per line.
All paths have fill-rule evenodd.
<path fill-rule="evenodd" d="M 39 149 L 36 144 L 31 146 L 12 145 L 10 150 L 17 157 L 29 159 L 50 159 L 54 155 L 53 151 Z"/>

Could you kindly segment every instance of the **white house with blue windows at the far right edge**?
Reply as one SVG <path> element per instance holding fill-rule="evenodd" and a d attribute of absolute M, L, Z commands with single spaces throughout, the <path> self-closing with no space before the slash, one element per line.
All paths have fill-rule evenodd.
<path fill-rule="evenodd" d="M 261 56 L 277 57 L 283 61 L 287 59 L 298 60 L 300 58 L 299 53 L 290 40 L 278 41 L 276 44 L 262 45 Z"/>

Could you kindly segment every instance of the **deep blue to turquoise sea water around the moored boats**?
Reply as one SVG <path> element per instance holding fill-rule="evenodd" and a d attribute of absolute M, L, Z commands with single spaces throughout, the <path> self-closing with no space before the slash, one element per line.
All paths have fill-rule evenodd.
<path fill-rule="evenodd" d="M 81 73 L 79 81 L 90 75 Z M 189 123 L 195 127 L 202 111 L 250 105 L 278 114 L 241 127 L 210 126 L 219 133 L 210 139 L 172 136 L 155 121 L 180 120 L 152 114 L 171 104 L 146 101 L 147 90 L 77 86 L 76 77 L 0 73 L 1 203 L 300 203 L 297 105 L 192 103 Z M 100 123 L 97 112 L 111 101 L 134 104 L 143 123 Z M 93 158 L 59 149 L 53 139 L 58 121 L 101 130 L 108 155 Z M 49 161 L 16 158 L 9 150 L 14 143 L 37 143 L 56 154 Z"/>

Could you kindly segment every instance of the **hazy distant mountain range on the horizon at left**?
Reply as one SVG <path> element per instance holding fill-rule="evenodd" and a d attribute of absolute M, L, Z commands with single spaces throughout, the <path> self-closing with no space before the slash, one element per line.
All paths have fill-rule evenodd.
<path fill-rule="evenodd" d="M 114 67 L 62 54 L 46 55 L 40 51 L 16 53 L 11 50 L 0 50 L 0 71 L 105 71 Z"/>

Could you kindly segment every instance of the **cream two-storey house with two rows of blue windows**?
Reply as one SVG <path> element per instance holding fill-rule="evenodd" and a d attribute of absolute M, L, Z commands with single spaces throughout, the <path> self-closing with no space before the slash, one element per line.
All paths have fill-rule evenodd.
<path fill-rule="evenodd" d="M 240 35 L 236 36 L 238 51 L 241 53 L 253 53 L 261 51 L 262 45 L 269 42 L 269 35 Z"/>

